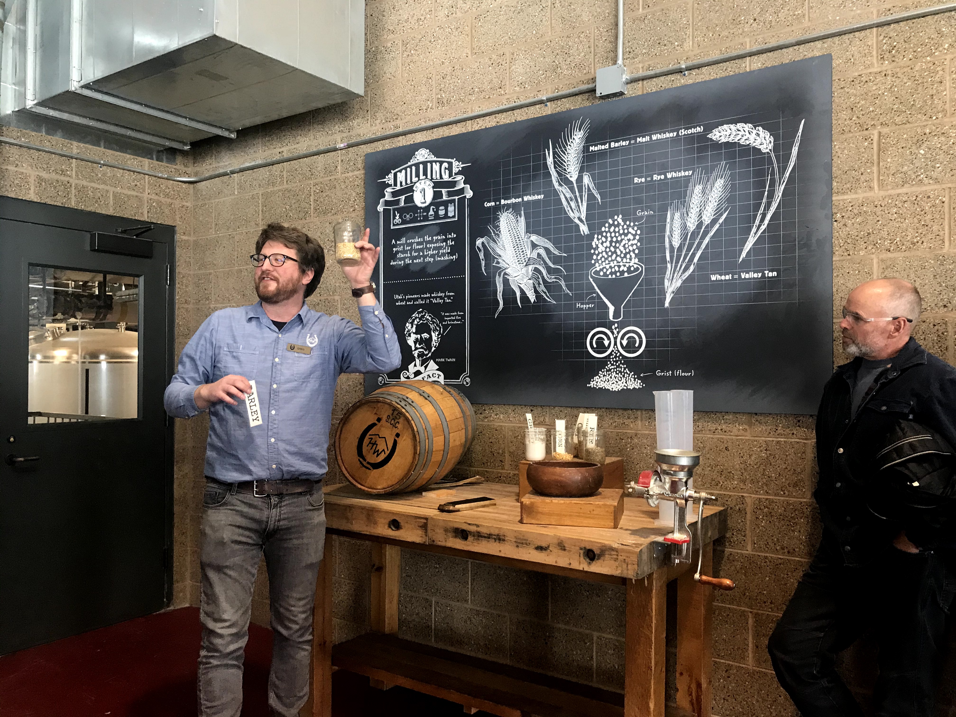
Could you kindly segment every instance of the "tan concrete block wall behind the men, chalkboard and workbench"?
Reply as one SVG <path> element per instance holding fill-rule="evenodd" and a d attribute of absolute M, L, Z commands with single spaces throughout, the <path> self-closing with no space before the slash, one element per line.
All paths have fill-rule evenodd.
<path fill-rule="evenodd" d="M 625 64 L 630 72 L 654 69 L 933 4 L 935 0 L 628 0 Z M 592 82 L 597 68 L 615 60 L 615 12 L 613 0 L 367 0 L 365 97 L 252 127 L 235 141 L 199 143 L 184 162 L 191 163 L 189 171 L 206 173 Z M 923 292 L 926 313 L 917 327 L 923 344 L 950 362 L 956 359 L 954 31 L 956 14 L 943 14 L 687 76 L 648 80 L 629 89 L 635 95 L 801 57 L 834 55 L 838 362 L 836 319 L 842 298 L 859 281 L 891 275 L 912 279 Z M 176 340 L 181 349 L 213 311 L 254 300 L 246 257 L 266 223 L 295 224 L 331 250 L 332 224 L 362 216 L 366 151 L 595 101 L 591 96 L 570 98 L 192 188 L 0 147 L 0 191 L 177 224 Z M 27 133 L 17 136 L 55 142 Z M 328 268 L 310 305 L 358 318 L 335 265 Z M 341 377 L 334 419 L 361 395 L 360 377 Z M 475 443 L 459 470 L 514 483 L 528 407 L 475 408 Z M 544 425 L 573 417 L 582 408 L 535 407 L 534 414 Z M 597 412 L 610 431 L 609 449 L 625 457 L 633 475 L 650 457 L 653 414 Z M 714 713 L 794 714 L 773 678 L 766 640 L 819 534 L 810 497 L 815 484 L 813 421 L 759 414 L 696 418 L 697 443 L 704 453 L 701 486 L 720 493 L 729 511 L 730 532 L 716 554 L 718 570 L 739 585 L 734 593 L 719 596 L 715 607 Z M 206 424 L 200 418 L 177 422 L 176 429 L 176 604 L 196 604 Z M 340 481 L 334 461 L 330 465 L 329 482 Z M 336 636 L 344 640 L 368 629 L 371 556 L 361 543 L 334 544 Z M 596 588 L 585 583 L 423 554 L 406 552 L 402 562 L 400 629 L 406 637 L 619 688 L 620 610 L 615 591 L 602 589 L 598 598 L 592 594 Z M 513 599 L 503 605 L 494 601 L 495 593 Z M 601 606 L 598 617 L 586 610 L 595 599 Z M 268 624 L 264 576 L 253 606 L 253 619 Z M 865 699 L 875 672 L 872 646 L 861 643 L 842 662 L 848 680 Z M 956 682 L 952 666 L 945 674 L 948 684 Z M 943 713 L 956 714 L 953 703 L 944 689 Z"/>

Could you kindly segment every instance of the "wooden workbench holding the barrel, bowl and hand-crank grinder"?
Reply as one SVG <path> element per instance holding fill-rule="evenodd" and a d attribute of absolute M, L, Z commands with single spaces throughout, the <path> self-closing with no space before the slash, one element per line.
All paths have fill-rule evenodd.
<path fill-rule="evenodd" d="M 488 495 L 497 505 L 442 513 L 440 503 Z M 331 717 L 332 669 L 401 684 L 502 717 L 620 715 L 663 717 L 666 585 L 678 581 L 677 702 L 671 714 L 710 714 L 712 589 L 693 580 L 692 563 L 666 564 L 669 532 L 657 509 L 625 499 L 618 529 L 522 525 L 514 486 L 483 484 L 395 495 L 369 495 L 351 485 L 325 491 L 328 532 L 315 600 L 313 690 L 307 714 Z M 726 510 L 704 511 L 704 567 L 711 574 L 712 541 L 727 530 Z M 696 539 L 696 526 L 694 526 Z M 333 648 L 331 536 L 374 545 L 371 620 L 375 632 Z M 469 658 L 400 640 L 401 548 L 454 555 L 511 567 L 626 586 L 624 695 L 557 680 L 509 665 Z M 505 588 L 507 589 L 507 588 Z"/>

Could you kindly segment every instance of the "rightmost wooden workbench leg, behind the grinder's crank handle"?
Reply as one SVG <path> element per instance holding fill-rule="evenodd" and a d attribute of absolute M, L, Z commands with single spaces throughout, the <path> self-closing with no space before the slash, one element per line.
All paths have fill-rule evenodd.
<path fill-rule="evenodd" d="M 702 546 L 701 573 L 712 575 L 713 543 Z M 677 706 L 710 716 L 713 589 L 687 571 L 677 578 Z"/>

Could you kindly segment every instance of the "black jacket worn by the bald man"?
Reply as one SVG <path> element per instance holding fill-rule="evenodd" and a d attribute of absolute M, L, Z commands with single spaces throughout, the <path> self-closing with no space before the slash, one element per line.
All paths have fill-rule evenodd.
<path fill-rule="evenodd" d="M 870 510 L 877 455 L 901 422 L 916 422 L 956 446 L 956 368 L 910 338 L 892 366 L 867 391 L 855 415 L 850 398 L 860 359 L 836 369 L 816 414 L 820 507 L 824 540 L 835 541 L 848 565 L 876 558 L 905 527 Z M 908 534 L 908 533 L 907 533 Z M 919 545 L 919 544 L 917 544 Z M 920 546 L 928 547 L 928 546 Z M 956 547 L 956 535 L 933 547 Z"/>

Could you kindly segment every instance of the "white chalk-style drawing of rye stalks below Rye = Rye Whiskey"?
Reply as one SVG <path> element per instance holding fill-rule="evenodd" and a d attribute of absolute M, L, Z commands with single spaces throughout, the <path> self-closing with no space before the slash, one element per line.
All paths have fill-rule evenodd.
<path fill-rule="evenodd" d="M 663 244 L 667 259 L 664 306 L 670 306 L 671 298 L 697 266 L 710 237 L 727 218 L 729 195 L 730 172 L 722 162 L 706 179 L 700 169 L 695 170 L 687 185 L 686 198 L 674 202 L 667 210 Z"/>

